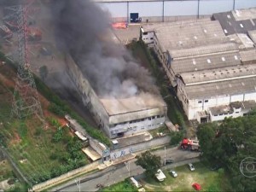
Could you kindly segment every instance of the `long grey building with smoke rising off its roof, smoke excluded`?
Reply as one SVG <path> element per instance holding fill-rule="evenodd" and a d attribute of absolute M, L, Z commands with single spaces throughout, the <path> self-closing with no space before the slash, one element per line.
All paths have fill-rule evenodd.
<path fill-rule="evenodd" d="M 167 107 L 160 96 L 142 93 L 128 98 L 99 97 L 68 55 L 66 63 L 67 73 L 78 87 L 84 105 L 108 137 L 130 136 L 165 123 Z"/>

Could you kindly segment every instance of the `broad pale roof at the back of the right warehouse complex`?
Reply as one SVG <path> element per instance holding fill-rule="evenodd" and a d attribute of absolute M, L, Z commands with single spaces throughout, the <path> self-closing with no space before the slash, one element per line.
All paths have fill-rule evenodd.
<path fill-rule="evenodd" d="M 154 32 L 163 52 L 227 41 L 218 20 L 161 26 Z"/>

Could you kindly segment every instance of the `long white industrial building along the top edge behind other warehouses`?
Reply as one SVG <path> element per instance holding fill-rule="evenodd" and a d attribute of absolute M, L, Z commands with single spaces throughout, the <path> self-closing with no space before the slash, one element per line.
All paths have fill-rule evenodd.
<path fill-rule="evenodd" d="M 256 6 L 254 0 L 94 0 L 113 21 L 155 22 L 201 18 Z"/>

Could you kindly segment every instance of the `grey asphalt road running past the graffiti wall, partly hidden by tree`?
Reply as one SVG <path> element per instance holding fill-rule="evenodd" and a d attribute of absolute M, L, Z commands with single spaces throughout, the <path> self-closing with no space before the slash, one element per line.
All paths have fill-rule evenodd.
<path fill-rule="evenodd" d="M 174 163 L 163 167 L 164 169 L 171 168 L 173 166 L 181 166 L 189 162 L 194 162 L 195 157 L 198 157 L 199 153 L 179 150 L 177 148 L 166 148 L 153 152 L 156 155 L 160 155 L 162 162 L 166 154 L 166 159 L 174 160 Z M 112 185 L 113 183 L 119 183 L 123 181 L 125 177 L 137 176 L 141 177 L 144 170 L 141 166 L 135 165 L 135 159 L 128 161 L 127 163 L 121 163 L 117 166 L 110 166 L 102 172 L 96 172 L 91 175 L 86 175 L 74 179 L 68 183 L 51 189 L 51 191 L 96 191 L 97 184 L 103 184 L 104 186 Z M 130 172 L 129 172 L 130 170 Z M 79 184 L 80 180 L 80 184 Z"/>

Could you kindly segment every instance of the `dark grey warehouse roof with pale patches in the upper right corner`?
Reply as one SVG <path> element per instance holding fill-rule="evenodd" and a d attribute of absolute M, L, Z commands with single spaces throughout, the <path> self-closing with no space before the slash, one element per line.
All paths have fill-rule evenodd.
<path fill-rule="evenodd" d="M 239 9 L 224 13 L 213 14 L 212 17 L 218 20 L 226 35 L 234 33 L 247 33 L 256 29 L 255 8 Z"/>

